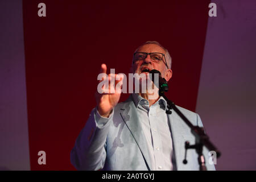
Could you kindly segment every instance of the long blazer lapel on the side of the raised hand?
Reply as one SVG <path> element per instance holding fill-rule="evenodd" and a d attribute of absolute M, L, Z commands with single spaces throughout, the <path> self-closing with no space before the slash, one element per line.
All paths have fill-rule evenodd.
<path fill-rule="evenodd" d="M 147 148 L 146 137 L 144 136 L 141 123 L 137 116 L 136 107 L 131 97 L 121 106 L 120 114 L 126 126 L 130 130 L 131 135 L 133 135 L 136 143 L 138 144 L 144 160 L 147 163 L 148 169 L 151 170 L 150 155 Z"/>

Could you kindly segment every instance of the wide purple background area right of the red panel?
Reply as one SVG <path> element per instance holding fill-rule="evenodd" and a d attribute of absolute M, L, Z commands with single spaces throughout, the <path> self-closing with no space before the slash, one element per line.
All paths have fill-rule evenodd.
<path fill-rule="evenodd" d="M 196 112 L 222 151 L 218 170 L 256 170 L 256 1 L 216 3 Z"/>

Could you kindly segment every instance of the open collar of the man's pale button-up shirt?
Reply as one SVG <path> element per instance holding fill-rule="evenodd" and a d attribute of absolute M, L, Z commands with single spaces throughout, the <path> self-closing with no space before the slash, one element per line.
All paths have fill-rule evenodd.
<path fill-rule="evenodd" d="M 148 100 L 144 99 L 143 97 L 139 96 L 137 93 L 131 94 L 133 98 L 133 102 L 135 104 L 135 107 L 137 108 L 138 105 L 148 105 Z M 155 104 L 159 104 L 160 108 L 163 110 L 166 110 L 167 107 L 167 102 L 164 100 L 164 98 L 161 96 L 158 101 L 155 102 Z M 154 105 L 155 105 L 154 104 Z"/>

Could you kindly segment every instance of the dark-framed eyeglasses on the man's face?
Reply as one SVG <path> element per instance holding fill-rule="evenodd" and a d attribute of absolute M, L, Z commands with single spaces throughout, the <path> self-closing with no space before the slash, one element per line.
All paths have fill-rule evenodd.
<path fill-rule="evenodd" d="M 134 57 L 134 60 L 137 61 L 137 60 L 144 60 L 146 59 L 147 55 L 150 55 L 150 59 L 156 63 L 158 63 L 159 61 L 163 61 L 165 60 L 164 64 L 166 65 L 167 69 L 168 68 L 168 65 L 167 65 L 167 62 L 166 62 L 166 56 L 164 56 L 164 53 L 159 53 L 159 52 L 151 52 L 151 53 L 147 53 L 147 52 L 135 52 L 133 54 L 133 57 Z M 164 57 L 164 60 L 163 60 L 163 57 Z"/>

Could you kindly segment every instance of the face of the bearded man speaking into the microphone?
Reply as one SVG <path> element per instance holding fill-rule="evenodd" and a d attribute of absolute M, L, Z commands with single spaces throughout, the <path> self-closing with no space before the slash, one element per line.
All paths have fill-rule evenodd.
<path fill-rule="evenodd" d="M 145 44 L 144 46 L 140 47 L 137 52 L 159 52 L 159 53 L 164 53 L 166 54 L 166 51 L 164 49 L 156 44 Z M 170 80 L 172 76 L 172 71 L 171 69 L 168 69 L 166 67 L 165 59 L 163 57 L 163 60 L 160 60 L 158 62 L 152 61 L 150 59 L 150 55 L 147 55 L 147 57 L 144 60 L 134 60 L 134 63 L 131 67 L 133 73 L 138 73 L 139 75 L 141 73 L 148 74 L 148 72 L 145 72 L 145 70 L 149 69 L 151 71 L 152 69 L 158 70 L 162 77 L 166 78 L 166 80 Z"/>

